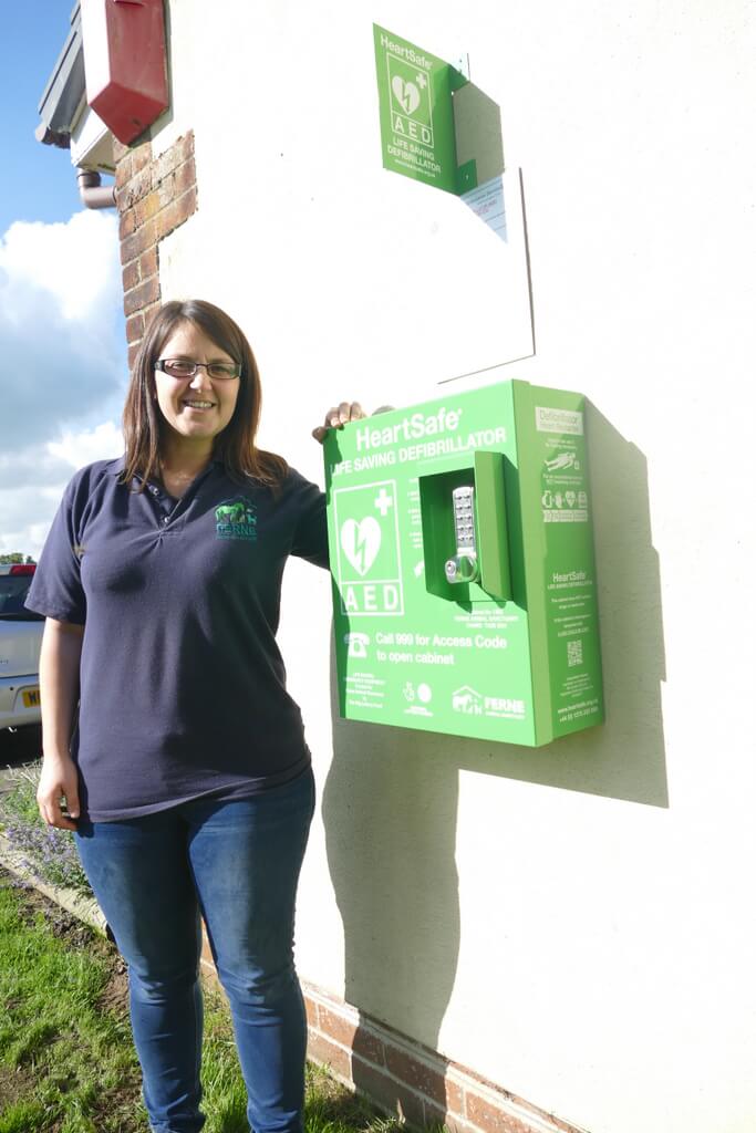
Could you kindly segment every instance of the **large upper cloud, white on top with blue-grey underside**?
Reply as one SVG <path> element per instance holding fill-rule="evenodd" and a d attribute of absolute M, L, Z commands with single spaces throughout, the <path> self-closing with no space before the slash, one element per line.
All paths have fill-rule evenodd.
<path fill-rule="evenodd" d="M 114 215 L 11 224 L 0 239 L 0 451 L 112 414 L 127 378 Z"/>

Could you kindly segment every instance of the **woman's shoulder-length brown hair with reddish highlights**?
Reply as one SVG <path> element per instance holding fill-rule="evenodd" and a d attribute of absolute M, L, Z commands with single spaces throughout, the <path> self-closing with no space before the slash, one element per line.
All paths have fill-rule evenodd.
<path fill-rule="evenodd" d="M 124 406 L 124 440 L 126 463 L 122 480 L 142 478 L 142 487 L 158 469 L 161 431 L 164 428 L 158 408 L 155 363 L 169 337 L 180 323 L 193 323 L 215 346 L 241 366 L 239 395 L 231 420 L 215 437 L 213 457 L 221 460 L 233 480 L 249 477 L 275 488 L 287 474 L 282 457 L 264 452 L 255 445 L 260 424 L 262 387 L 252 347 L 233 320 L 204 299 L 173 300 L 164 304 L 150 323 L 131 372 L 131 382 Z"/>

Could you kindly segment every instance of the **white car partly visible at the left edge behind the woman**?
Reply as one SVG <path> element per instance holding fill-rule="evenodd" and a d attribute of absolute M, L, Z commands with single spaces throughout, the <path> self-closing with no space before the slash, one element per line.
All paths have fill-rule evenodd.
<path fill-rule="evenodd" d="M 0 729 L 39 724 L 44 617 L 24 606 L 35 566 L 0 563 Z"/>

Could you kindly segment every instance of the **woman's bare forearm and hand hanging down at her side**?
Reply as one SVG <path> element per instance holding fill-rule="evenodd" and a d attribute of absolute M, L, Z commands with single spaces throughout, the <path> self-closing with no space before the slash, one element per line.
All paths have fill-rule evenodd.
<path fill-rule="evenodd" d="M 63 830 L 75 830 L 79 816 L 78 772 L 69 742 L 78 702 L 83 637 L 83 625 L 48 617 L 40 654 L 43 761 L 36 801 L 48 826 Z M 61 810 L 63 799 L 68 813 Z"/>

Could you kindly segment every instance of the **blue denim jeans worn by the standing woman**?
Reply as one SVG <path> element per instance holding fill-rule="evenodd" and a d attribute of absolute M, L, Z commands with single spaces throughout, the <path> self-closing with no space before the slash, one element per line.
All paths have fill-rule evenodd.
<path fill-rule="evenodd" d="M 255 1133 L 300 1133 L 307 1026 L 294 969 L 312 770 L 233 802 L 79 823 L 82 863 L 129 973 L 134 1042 L 154 1133 L 197 1133 L 204 918 L 228 995 Z"/>

